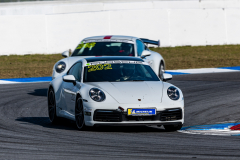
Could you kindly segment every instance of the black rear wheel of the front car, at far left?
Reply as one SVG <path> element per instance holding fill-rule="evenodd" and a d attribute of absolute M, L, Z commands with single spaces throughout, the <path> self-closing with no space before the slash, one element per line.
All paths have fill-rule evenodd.
<path fill-rule="evenodd" d="M 51 123 L 57 124 L 60 122 L 59 117 L 56 115 L 56 100 L 52 88 L 50 88 L 48 92 L 48 116 Z"/>

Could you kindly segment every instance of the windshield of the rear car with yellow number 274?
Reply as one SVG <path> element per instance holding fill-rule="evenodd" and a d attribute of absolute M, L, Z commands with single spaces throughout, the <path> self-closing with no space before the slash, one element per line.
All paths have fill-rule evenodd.
<path fill-rule="evenodd" d="M 72 56 L 134 56 L 134 45 L 124 42 L 81 43 Z"/>

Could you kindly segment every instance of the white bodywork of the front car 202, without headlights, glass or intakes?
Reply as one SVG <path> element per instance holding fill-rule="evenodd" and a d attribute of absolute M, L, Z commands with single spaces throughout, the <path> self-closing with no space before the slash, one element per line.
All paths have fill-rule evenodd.
<path fill-rule="evenodd" d="M 70 57 L 69 60 L 74 58 Z M 76 59 L 76 58 L 75 58 Z M 75 61 L 74 59 L 74 61 Z M 80 60 L 83 67 L 87 61 Z M 156 108 L 156 111 L 164 111 L 166 109 L 182 109 L 182 119 L 176 121 L 122 121 L 122 122 L 105 122 L 107 124 L 161 124 L 161 123 L 184 123 L 184 98 L 182 91 L 179 90 L 180 98 L 171 100 L 167 95 L 167 89 L 174 86 L 163 81 L 139 81 L 139 82 L 76 82 L 76 85 L 63 81 L 63 76 L 56 77 L 50 82 L 50 87 L 54 89 L 56 99 L 56 114 L 59 117 L 75 120 L 75 103 L 77 95 L 80 95 L 83 101 L 84 110 L 91 112 L 92 116 L 84 116 L 85 125 L 93 126 L 104 124 L 93 120 L 94 111 L 96 109 L 117 110 L 122 107 L 124 112 L 128 108 Z M 82 72 L 83 77 L 83 72 Z M 102 102 L 96 102 L 89 96 L 91 88 L 102 90 L 106 99 Z M 141 101 L 138 101 L 141 99 Z"/>

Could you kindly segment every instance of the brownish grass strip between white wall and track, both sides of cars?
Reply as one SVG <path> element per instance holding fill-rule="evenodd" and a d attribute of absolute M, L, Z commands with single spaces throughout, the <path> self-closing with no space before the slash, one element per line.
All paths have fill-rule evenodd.
<path fill-rule="evenodd" d="M 161 53 L 166 69 L 239 66 L 240 45 L 151 48 Z M 61 54 L 0 56 L 0 79 L 51 76 Z"/>

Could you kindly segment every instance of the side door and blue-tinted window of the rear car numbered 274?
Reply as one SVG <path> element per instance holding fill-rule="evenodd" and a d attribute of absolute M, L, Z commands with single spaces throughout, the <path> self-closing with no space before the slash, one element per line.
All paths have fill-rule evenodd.
<path fill-rule="evenodd" d="M 139 39 L 136 40 L 136 44 L 137 44 L 137 54 L 138 54 L 138 57 L 141 57 L 142 52 L 143 52 L 144 50 L 149 50 L 149 49 L 145 46 L 145 44 L 144 44 L 141 40 L 139 40 Z M 144 60 L 145 62 L 147 62 L 147 63 L 153 68 L 153 58 L 152 58 L 151 55 L 144 57 L 143 60 Z"/>

